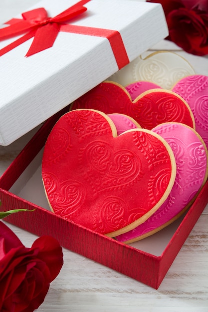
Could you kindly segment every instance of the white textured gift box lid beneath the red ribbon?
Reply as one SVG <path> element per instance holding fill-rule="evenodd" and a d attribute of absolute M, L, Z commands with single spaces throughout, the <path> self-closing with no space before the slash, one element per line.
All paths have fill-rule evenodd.
<path fill-rule="evenodd" d="M 55 16 L 76 2 L 42 0 L 31 9 L 44 7 L 48 16 Z M 84 6 L 87 11 L 68 23 L 119 31 L 129 61 L 168 35 L 160 4 L 90 0 Z M 0 41 L 0 49 L 19 37 Z M 20 138 L 119 69 L 107 38 L 59 31 L 51 48 L 25 57 L 32 40 L 0 56 L 2 146 Z"/>

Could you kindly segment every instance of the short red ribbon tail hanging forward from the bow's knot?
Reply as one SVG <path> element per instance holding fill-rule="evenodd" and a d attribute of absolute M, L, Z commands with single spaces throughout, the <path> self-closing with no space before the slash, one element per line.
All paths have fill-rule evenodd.
<path fill-rule="evenodd" d="M 38 28 L 35 32 L 32 44 L 25 56 L 30 56 L 50 48 L 53 45 L 58 32 L 59 25 L 57 23 L 48 23 Z"/>

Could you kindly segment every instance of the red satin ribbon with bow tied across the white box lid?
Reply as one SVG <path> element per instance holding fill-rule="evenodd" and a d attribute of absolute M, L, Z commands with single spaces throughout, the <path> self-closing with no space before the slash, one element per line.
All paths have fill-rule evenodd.
<path fill-rule="evenodd" d="M 59 31 L 73 32 L 79 34 L 106 37 L 111 45 L 119 69 L 129 63 L 126 49 L 121 35 L 116 30 L 103 28 L 78 26 L 66 24 L 64 22 L 78 16 L 87 10 L 83 6 L 90 0 L 81 0 L 65 11 L 54 17 L 48 17 L 46 10 L 41 7 L 22 13 L 23 19 L 12 18 L 7 24 L 8 27 L 0 29 L 0 40 L 19 35 L 27 31 L 26 34 L 8 44 L 0 50 L 0 56 L 17 47 L 19 44 L 34 37 L 32 44 L 25 56 L 30 56 L 42 50 L 52 47 Z"/>

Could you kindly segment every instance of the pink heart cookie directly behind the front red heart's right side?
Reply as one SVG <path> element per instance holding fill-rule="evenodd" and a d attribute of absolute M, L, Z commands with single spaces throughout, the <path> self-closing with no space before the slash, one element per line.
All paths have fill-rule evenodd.
<path fill-rule="evenodd" d="M 208 152 L 199 134 L 183 124 L 167 123 L 153 132 L 171 146 L 177 165 L 176 179 L 167 200 L 144 223 L 116 237 L 120 242 L 132 243 L 158 232 L 191 205 L 208 178 Z"/>

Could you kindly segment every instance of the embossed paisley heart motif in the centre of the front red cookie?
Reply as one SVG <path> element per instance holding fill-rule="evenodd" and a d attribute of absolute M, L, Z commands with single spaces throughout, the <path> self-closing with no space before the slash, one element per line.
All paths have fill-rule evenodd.
<path fill-rule="evenodd" d="M 87 161 L 85 161 L 87 159 Z M 130 188 L 144 175 L 140 158 L 125 149 L 114 151 L 103 141 L 93 141 L 79 154 L 80 173 L 91 185 L 92 196 L 106 190 Z"/>

